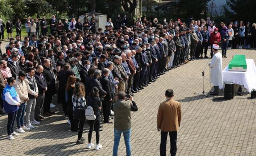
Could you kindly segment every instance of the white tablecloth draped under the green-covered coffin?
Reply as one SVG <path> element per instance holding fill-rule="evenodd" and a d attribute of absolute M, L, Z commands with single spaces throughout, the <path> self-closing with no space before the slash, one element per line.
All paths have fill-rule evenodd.
<path fill-rule="evenodd" d="M 228 65 L 223 70 L 223 81 L 233 82 L 235 84 L 243 85 L 249 93 L 252 89 L 256 89 L 256 67 L 253 59 L 246 59 L 247 71 L 228 71 Z"/>

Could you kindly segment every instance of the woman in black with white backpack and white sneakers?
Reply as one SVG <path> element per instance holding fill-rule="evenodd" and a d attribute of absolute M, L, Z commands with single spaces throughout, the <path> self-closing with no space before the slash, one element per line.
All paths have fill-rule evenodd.
<path fill-rule="evenodd" d="M 94 111 L 94 115 L 96 116 L 95 120 L 88 120 L 90 125 L 90 130 L 88 133 L 88 144 L 87 147 L 90 149 L 91 147 L 94 147 L 94 144 L 91 142 L 92 137 L 92 131 L 96 132 L 96 146 L 95 149 L 99 150 L 102 148 L 102 145 L 99 144 L 100 140 L 100 110 L 102 108 L 102 103 L 100 101 L 99 97 L 99 89 L 97 87 L 92 88 L 90 95 L 87 98 L 88 106 L 91 106 Z"/>

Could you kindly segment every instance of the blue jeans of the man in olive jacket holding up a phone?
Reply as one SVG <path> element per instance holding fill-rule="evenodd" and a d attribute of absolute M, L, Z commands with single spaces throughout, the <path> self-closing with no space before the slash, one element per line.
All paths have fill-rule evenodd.
<path fill-rule="evenodd" d="M 119 131 L 114 129 L 114 147 L 113 147 L 113 156 L 117 156 L 118 146 L 121 138 L 121 134 L 123 132 L 124 135 L 124 143 L 126 147 L 126 156 L 131 156 L 131 129 Z"/>

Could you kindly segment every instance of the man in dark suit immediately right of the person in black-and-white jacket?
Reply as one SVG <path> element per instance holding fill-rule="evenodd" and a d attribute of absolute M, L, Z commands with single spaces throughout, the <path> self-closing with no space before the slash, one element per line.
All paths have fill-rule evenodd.
<path fill-rule="evenodd" d="M 38 97 L 36 99 L 36 108 L 34 114 L 34 118 L 36 119 L 36 121 L 41 121 L 42 119 L 45 119 L 45 117 L 41 115 L 41 109 L 45 99 L 45 92 L 47 90 L 47 84 L 45 81 L 45 76 L 43 75 L 43 71 L 43 66 L 38 66 L 35 72 L 35 78 L 38 88 Z"/>

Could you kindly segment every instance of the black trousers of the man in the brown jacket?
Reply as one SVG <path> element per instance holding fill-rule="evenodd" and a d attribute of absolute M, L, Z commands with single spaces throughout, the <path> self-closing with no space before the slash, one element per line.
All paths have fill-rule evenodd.
<path fill-rule="evenodd" d="M 160 156 L 166 156 L 166 141 L 168 132 L 161 131 L 161 143 L 160 143 Z M 171 156 L 176 156 L 177 152 L 177 131 L 169 132 L 171 149 Z"/>

